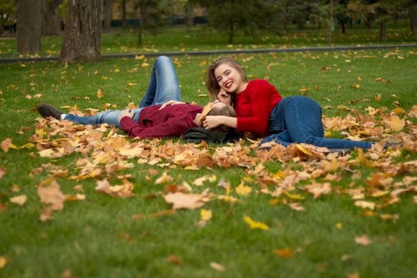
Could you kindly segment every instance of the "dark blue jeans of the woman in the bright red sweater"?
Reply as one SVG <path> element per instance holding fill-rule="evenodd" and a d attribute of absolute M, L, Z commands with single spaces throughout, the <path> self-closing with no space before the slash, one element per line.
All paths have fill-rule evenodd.
<path fill-rule="evenodd" d="M 320 105 L 309 97 L 286 97 L 272 109 L 266 142 L 277 142 L 284 147 L 291 143 L 306 143 L 329 149 L 370 149 L 372 142 L 324 138 Z"/>

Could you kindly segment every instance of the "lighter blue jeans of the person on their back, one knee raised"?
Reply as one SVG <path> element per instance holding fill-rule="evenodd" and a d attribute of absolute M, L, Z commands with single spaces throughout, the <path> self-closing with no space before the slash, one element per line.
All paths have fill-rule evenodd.
<path fill-rule="evenodd" d="M 181 90 L 179 89 L 179 83 L 177 74 L 175 73 L 174 65 L 170 58 L 166 56 L 159 56 L 152 69 L 151 80 L 145 96 L 140 101 L 139 108 L 134 109 L 133 121 L 139 121 L 140 111 L 147 106 L 153 106 L 158 104 L 165 104 L 170 100 L 181 101 Z M 68 114 L 65 116 L 65 120 L 75 122 L 77 124 L 114 124 L 117 128 L 120 126 L 120 114 L 122 111 L 103 111 L 90 117 L 79 117 L 76 115 Z"/>

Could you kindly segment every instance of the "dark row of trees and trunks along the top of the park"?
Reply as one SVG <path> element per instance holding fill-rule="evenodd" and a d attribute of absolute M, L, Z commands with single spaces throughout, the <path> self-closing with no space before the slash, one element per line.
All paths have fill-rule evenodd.
<path fill-rule="evenodd" d="M 172 26 L 179 13 L 186 26 L 193 26 L 197 8 L 205 11 L 210 26 L 227 33 L 229 43 L 237 31 L 282 34 L 290 26 L 310 24 L 327 28 L 331 44 L 334 22 L 345 33 L 358 20 L 368 28 L 378 24 L 381 42 L 389 20 L 409 19 L 413 35 L 417 29 L 417 0 L 0 0 L 0 35 L 3 26 L 17 24 L 17 51 L 33 53 L 41 51 L 42 35 L 60 35 L 65 27 L 60 60 L 97 60 L 101 22 L 104 30 L 110 29 L 114 10 L 121 11 L 122 24 L 138 18 L 141 44 L 143 32 Z"/>

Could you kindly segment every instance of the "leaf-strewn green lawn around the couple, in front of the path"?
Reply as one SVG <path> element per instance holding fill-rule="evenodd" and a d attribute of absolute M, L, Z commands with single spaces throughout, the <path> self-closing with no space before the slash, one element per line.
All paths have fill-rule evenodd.
<path fill-rule="evenodd" d="M 386 107 L 388 111 L 398 106 L 403 109 L 403 112 L 397 110 L 398 116 L 410 121 L 408 126 L 411 127 L 416 124 L 416 117 L 408 115 L 417 104 L 416 54 L 415 48 L 239 55 L 235 58 L 247 67 L 251 79 L 269 79 L 283 97 L 303 93 L 316 99 L 322 107 L 331 106 L 324 109 L 326 117 L 353 115 L 338 106 L 357 108 L 361 115 L 367 113 L 365 109 L 369 106 Z M 199 96 L 206 94 L 204 69 L 215 58 L 172 58 L 183 101 L 206 104 L 208 97 Z M 64 106 L 60 109 L 65 112 L 69 111 L 65 107 L 75 104 L 81 111 L 87 108 L 101 111 L 106 104 L 120 109 L 131 101 L 138 104 L 147 88 L 153 62 L 154 59 L 143 59 L 67 66 L 58 63 L 0 65 L 3 72 L 0 80 L 0 142 L 11 138 L 17 147 L 28 143 L 28 138 L 35 135 L 35 118 L 40 117 L 30 111 L 36 104 Z M 380 77 L 384 81 L 377 82 Z M 357 85 L 359 88 L 354 88 Z M 98 98 L 98 90 L 105 96 Z M 36 97 L 38 94 L 42 96 Z M 378 95 L 381 95 L 379 101 Z M 22 126 L 26 128 L 22 129 Z M 411 133 L 407 129 L 403 131 Z M 45 132 L 50 130 L 45 129 Z M 330 132 L 338 138 L 345 136 L 339 131 Z M 164 149 L 171 144 L 171 140 L 162 140 L 161 144 L 158 140 L 142 142 L 155 149 Z M 172 142 L 175 145 L 177 139 Z M 256 158 L 251 142 L 245 141 L 241 145 L 249 150 L 251 158 Z M 208 148 L 213 154 L 221 147 L 224 146 L 198 148 Z M 395 155 L 395 152 L 386 155 L 390 154 Z M 350 160 L 361 157 L 358 152 L 350 155 Z M 416 193 L 402 193 L 398 195 L 399 202 L 375 208 L 376 215 L 368 217 L 361 216 L 368 209 L 354 206 L 355 200 L 343 193 L 350 189 L 352 181 L 353 188 L 367 188 L 368 177 L 379 172 L 378 168 L 351 165 L 349 168 L 356 173 L 356 178 L 352 172 L 338 168 L 332 174 L 341 179 L 332 181 L 332 193 L 313 199 L 303 188 L 314 179 L 306 179 L 286 194 L 272 197 L 259 192 L 261 186 L 256 175 L 247 172 L 245 167 L 214 165 L 211 169 L 186 170 L 177 165 L 170 169 L 141 164 L 138 158 L 129 158 L 122 160 L 132 163 L 133 167 L 117 174 L 133 175 L 130 181 L 135 195 L 120 199 L 95 192 L 96 181 L 108 179 L 106 175 L 78 181 L 68 179 L 79 173 L 76 162 L 83 157 L 93 159 L 91 152 L 47 158 L 40 157 L 35 148 L 10 148 L 7 153 L 0 150 L 0 169 L 8 170 L 0 178 L 0 277 L 60 277 L 69 272 L 74 277 L 348 277 L 355 274 L 359 277 L 412 277 L 417 271 Z M 270 159 L 263 165 L 271 177 L 283 177 L 288 174 L 289 166 L 302 171 L 303 167 L 318 163 L 309 157 L 297 159 Z M 397 165 L 416 160 L 415 152 L 405 150 L 393 157 Z M 41 222 L 40 212 L 46 205 L 40 202 L 37 190 L 38 185 L 49 178 L 51 166 L 47 163 L 69 170 L 68 177 L 56 178 L 65 195 L 81 193 L 85 200 L 67 201 L 62 211 L 52 213 L 53 220 Z M 33 174 L 33 168 L 39 167 L 43 172 Z M 152 175 L 149 169 L 157 170 L 158 174 Z M 254 169 L 251 165 L 250 170 Z M 173 181 L 156 184 L 163 172 Z M 358 173 L 360 177 L 357 177 Z M 204 175 L 214 175 L 216 179 L 195 186 L 195 179 Z M 402 181 L 404 177 L 417 175 L 415 171 L 403 172 L 393 176 L 393 182 Z M 316 181 L 325 182 L 322 178 L 318 177 Z M 172 208 L 162 197 L 164 185 L 181 185 L 185 181 L 193 193 L 202 193 L 209 188 L 211 193 L 226 195 L 226 190 L 218 186 L 220 179 L 230 183 L 230 196 L 244 204 L 212 199 L 202 206 L 213 214 L 204 226 L 199 225 L 202 208 L 152 217 L 152 213 Z M 247 196 L 238 195 L 236 191 L 242 180 L 252 188 L 252 193 Z M 122 184 L 115 177 L 109 181 L 112 185 Z M 415 186 L 416 181 L 412 181 L 411 186 L 413 184 Z M 13 188 L 16 190 L 15 185 L 19 192 L 9 192 Z M 76 191 L 76 185 L 82 185 L 83 191 Z M 268 188 L 273 191 L 275 186 Z M 22 206 L 10 202 L 10 198 L 19 195 L 27 196 Z M 389 200 L 387 196 L 367 195 L 365 200 L 381 205 Z M 293 202 L 300 203 L 305 211 L 295 211 L 286 205 Z M 140 217 L 132 217 L 138 214 L 142 216 L 140 220 Z M 386 218 L 394 219 L 384 220 L 379 216 L 384 214 L 389 215 Z M 246 215 L 265 223 L 270 229 L 251 229 L 243 220 Z M 373 213 L 368 212 L 368 215 Z M 367 235 L 372 243 L 355 243 L 354 238 L 363 235 Z"/>

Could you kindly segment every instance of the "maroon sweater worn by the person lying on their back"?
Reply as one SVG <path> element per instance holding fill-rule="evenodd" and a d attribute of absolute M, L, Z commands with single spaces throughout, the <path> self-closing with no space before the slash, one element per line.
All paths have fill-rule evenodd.
<path fill-rule="evenodd" d="M 203 108 L 190 104 L 174 104 L 159 110 L 161 105 L 148 106 L 140 111 L 139 121 L 122 117 L 120 125 L 130 138 L 179 137 L 192 127 L 198 127 L 194 119 Z"/>

